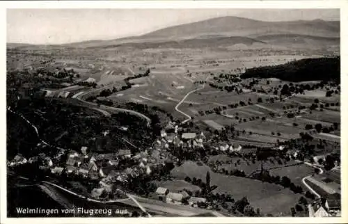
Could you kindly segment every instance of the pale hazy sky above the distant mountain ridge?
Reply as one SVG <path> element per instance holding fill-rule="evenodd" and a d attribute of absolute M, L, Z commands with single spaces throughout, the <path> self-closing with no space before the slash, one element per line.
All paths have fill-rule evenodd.
<path fill-rule="evenodd" d="M 338 9 L 8 9 L 7 42 L 61 44 L 122 38 L 226 15 L 264 21 L 340 19 Z"/>

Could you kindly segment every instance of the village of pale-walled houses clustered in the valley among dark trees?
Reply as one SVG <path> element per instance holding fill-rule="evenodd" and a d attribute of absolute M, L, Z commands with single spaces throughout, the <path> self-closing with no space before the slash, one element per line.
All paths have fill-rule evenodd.
<path fill-rule="evenodd" d="M 203 131 L 196 133 L 183 130 L 175 122 L 168 122 L 153 146 L 136 154 L 132 154 L 132 151 L 128 149 L 120 149 L 115 153 L 97 154 L 90 152 L 87 146 L 81 146 L 79 152 L 60 149 L 54 157 L 41 152 L 38 156 L 26 159 L 21 154 L 17 154 L 13 161 L 8 162 L 8 167 L 35 163 L 40 170 L 49 171 L 50 177 L 66 176 L 98 181 L 98 186 L 90 192 L 90 197 L 102 201 L 116 200 L 120 195 L 113 187 L 115 184 L 125 186 L 132 178 L 152 175 L 153 170 L 164 167 L 168 160 L 178 160 L 171 154 L 172 147 L 204 149 L 203 144 L 207 138 Z M 109 131 L 104 131 L 103 134 L 109 134 Z M 221 152 L 242 150 L 241 145 L 226 143 L 221 143 L 220 147 L 214 148 Z M 155 194 L 157 200 L 175 205 L 182 205 L 184 202 L 185 205 L 197 207 L 206 202 L 205 198 L 190 197 L 186 191 L 171 192 L 162 186 L 157 187 Z M 108 196 L 105 197 L 105 195 Z"/>

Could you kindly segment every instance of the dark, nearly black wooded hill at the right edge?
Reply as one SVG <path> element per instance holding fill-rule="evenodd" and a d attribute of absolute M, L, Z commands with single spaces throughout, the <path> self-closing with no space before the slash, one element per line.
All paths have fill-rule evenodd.
<path fill-rule="evenodd" d="M 277 78 L 293 82 L 313 80 L 340 82 L 340 56 L 306 58 L 283 65 L 253 67 L 247 69 L 241 78 Z"/>

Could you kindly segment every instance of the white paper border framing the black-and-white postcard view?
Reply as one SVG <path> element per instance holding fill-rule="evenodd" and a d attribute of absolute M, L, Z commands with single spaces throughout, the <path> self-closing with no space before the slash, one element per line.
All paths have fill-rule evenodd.
<path fill-rule="evenodd" d="M 82 7 L 81 7 L 82 6 Z M 348 1 L 1 1 L 1 124 L 0 223 L 348 223 L 347 205 L 347 104 Z M 340 218 L 7 218 L 6 210 L 6 8 L 340 8 L 341 22 L 341 119 L 342 119 L 342 217 Z"/>

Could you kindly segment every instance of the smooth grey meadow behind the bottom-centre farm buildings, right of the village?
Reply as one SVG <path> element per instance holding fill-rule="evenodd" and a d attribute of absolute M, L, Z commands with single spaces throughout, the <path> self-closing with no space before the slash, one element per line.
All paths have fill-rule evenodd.
<path fill-rule="evenodd" d="M 289 215 L 290 208 L 293 207 L 300 195 L 292 193 L 289 189 L 283 189 L 276 184 L 260 182 L 244 177 L 234 177 L 213 173 L 207 166 L 198 166 L 191 161 L 185 162 L 182 166 L 174 168 L 171 175 L 184 179 L 189 176 L 202 179 L 205 182 L 205 175 L 209 171 L 211 184 L 218 186 L 214 192 L 230 193 L 232 198 L 239 200 L 246 196 L 251 205 L 259 207 L 264 214 Z"/>

